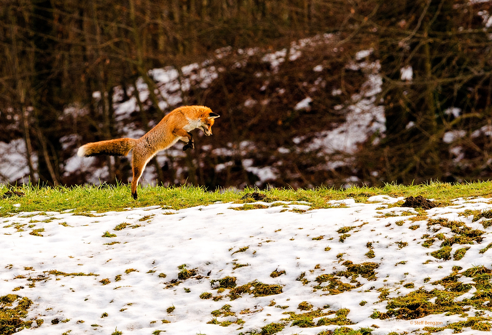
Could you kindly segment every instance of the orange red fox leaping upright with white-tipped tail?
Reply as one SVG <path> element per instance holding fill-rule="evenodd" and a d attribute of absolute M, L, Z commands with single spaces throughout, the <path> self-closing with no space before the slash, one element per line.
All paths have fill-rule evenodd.
<path fill-rule="evenodd" d="M 145 166 L 161 150 L 167 149 L 178 140 L 186 144 L 186 149 L 195 149 L 193 136 L 190 131 L 195 128 L 203 130 L 205 135 L 212 135 L 214 119 L 219 115 L 205 106 L 183 106 L 176 108 L 166 115 L 147 134 L 139 139 L 120 138 L 117 140 L 93 142 L 79 148 L 77 155 L 80 157 L 107 154 L 112 156 L 126 156 L 133 150 L 131 166 L 133 180 L 131 181 L 131 195 L 137 199 L 137 184 L 142 176 Z"/>

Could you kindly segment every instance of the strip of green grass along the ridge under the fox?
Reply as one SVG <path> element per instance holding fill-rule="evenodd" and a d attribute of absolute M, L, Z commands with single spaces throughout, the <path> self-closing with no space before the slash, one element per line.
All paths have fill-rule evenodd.
<path fill-rule="evenodd" d="M 146 206 L 170 206 L 178 210 L 187 207 L 209 205 L 216 201 L 244 202 L 241 197 L 246 193 L 258 192 L 253 188 L 246 188 L 238 192 L 234 190 L 206 191 L 202 187 L 143 187 L 139 189 L 138 200 L 133 200 L 130 195 L 129 185 L 104 185 L 104 186 L 74 186 L 74 187 L 39 187 L 36 185 L 23 185 L 15 188 L 24 192 L 24 196 L 11 196 L 3 198 L 3 194 L 9 190 L 9 186 L 0 186 L 0 216 L 17 212 L 33 211 L 64 211 L 75 209 L 75 212 L 98 213 L 108 211 L 122 211 L 128 207 Z M 316 189 L 279 189 L 259 191 L 267 196 L 265 201 L 307 201 L 314 208 L 326 207 L 328 200 L 354 198 L 358 202 L 365 202 L 373 195 L 386 194 L 394 197 L 422 195 L 438 201 L 449 201 L 459 197 L 492 197 L 492 182 L 450 184 L 432 182 L 421 185 L 395 185 L 386 184 L 384 187 L 352 187 L 346 189 L 334 189 L 318 187 Z M 251 199 L 249 199 L 250 201 Z M 13 206 L 20 204 L 20 207 Z"/>

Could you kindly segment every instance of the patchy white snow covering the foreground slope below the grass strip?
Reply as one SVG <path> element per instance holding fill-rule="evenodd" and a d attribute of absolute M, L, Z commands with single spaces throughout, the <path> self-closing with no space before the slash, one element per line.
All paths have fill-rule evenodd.
<path fill-rule="evenodd" d="M 377 289 L 388 288 L 391 292 L 389 297 L 405 295 L 419 287 L 431 291 L 436 288 L 431 283 L 449 275 L 452 266 L 461 266 L 463 271 L 472 265 L 490 268 L 492 249 L 482 254 L 479 250 L 492 241 L 492 227 L 484 229 L 480 221 L 471 222 L 472 216 L 459 214 L 467 209 L 488 209 L 491 199 L 460 198 L 454 202 L 455 206 L 427 211 L 429 218 L 445 217 L 486 231 L 481 244 L 466 245 L 470 249 L 459 261 L 433 258 L 430 252 L 437 250 L 439 243 L 429 248 L 421 245 L 424 241 L 422 235 L 432 235 L 432 232 L 428 230 L 426 221 L 408 220 L 414 215 L 404 211 L 416 213 L 413 209 L 382 209 L 400 199 L 375 196 L 369 201 L 377 203 L 367 204 L 355 203 L 353 199 L 332 201 L 334 206 L 340 208 L 305 213 L 300 213 L 300 210 L 306 210 L 308 206 L 285 203 L 242 211 L 231 209 L 242 206 L 240 204 L 215 203 L 180 211 L 153 206 L 125 212 L 94 213 L 93 216 L 19 212 L 2 218 L 0 295 L 14 293 L 28 297 L 33 301 L 28 317 L 44 320 L 39 328 L 23 330 L 22 334 L 62 334 L 68 330 L 72 331 L 71 334 L 110 334 L 115 327 L 123 334 L 151 334 L 155 330 L 166 331 L 165 334 L 239 334 L 260 331 L 261 327 L 272 322 L 284 323 L 280 319 L 288 315 L 282 313 L 301 313 L 297 306 L 303 301 L 314 305 L 314 309 L 350 309 L 347 318 L 354 324 L 348 327 L 354 329 L 372 327 L 372 334 L 377 335 L 412 332 L 424 326 L 413 324 L 413 320 L 369 317 L 374 309 L 386 311 L 387 301 L 379 302 L 380 291 Z M 345 205 L 340 206 L 341 203 Z M 297 212 L 294 212 L 296 209 Z M 385 217 L 384 213 L 406 216 Z M 405 220 L 402 226 L 395 224 L 399 220 Z M 122 223 L 128 226 L 115 231 L 114 228 Z M 415 225 L 419 227 L 409 229 L 412 225 L 412 228 Z M 337 230 L 349 226 L 356 227 L 348 232 L 350 235 L 344 242 L 340 242 L 341 234 Z M 43 236 L 29 234 L 40 228 L 44 231 L 38 231 L 38 234 Z M 117 236 L 101 237 L 106 231 Z M 450 236 L 448 228 L 439 232 Z M 369 250 L 366 246 L 368 242 L 372 242 L 375 254 L 372 259 L 365 255 Z M 407 242 L 408 246 L 400 247 L 396 242 Z M 234 253 L 244 246 L 249 247 Z M 331 247 L 329 251 L 325 251 L 327 246 Z M 463 245 L 453 245 L 453 252 L 460 247 Z M 357 281 L 362 286 L 340 294 L 329 294 L 326 290 L 314 288 L 317 276 L 346 270 L 340 258 L 354 264 L 378 263 L 376 280 L 359 276 Z M 423 264 L 428 259 L 431 261 Z M 173 286 L 172 280 L 177 278 L 178 267 L 182 264 L 186 264 L 188 269 L 196 269 L 198 276 L 178 281 L 180 283 Z M 238 264 L 247 266 L 233 270 Z M 27 270 L 29 267 L 32 269 Z M 127 271 L 126 274 L 127 269 L 136 271 Z M 98 275 L 49 274 L 52 270 Z M 286 274 L 273 278 L 270 274 L 275 270 L 285 271 Z M 166 277 L 159 277 L 161 273 Z M 296 280 L 302 273 L 310 282 L 303 284 L 302 280 Z M 118 275 L 121 280 L 116 281 Z M 25 278 L 14 279 L 15 276 Z M 255 280 L 278 284 L 282 287 L 282 293 L 264 297 L 244 294 L 241 298 L 230 300 L 227 297 L 229 290 L 219 294 L 211 287 L 211 280 L 225 276 L 236 277 L 238 286 Z M 42 280 L 29 281 L 29 277 Z M 426 282 L 426 277 L 430 277 L 430 281 Z M 108 278 L 110 283 L 103 285 L 100 281 L 104 278 Z M 355 285 L 349 278 L 340 277 L 339 280 Z M 413 283 L 415 288 L 404 288 L 403 283 Z M 30 284 L 33 287 L 29 287 Z M 17 291 L 12 292 L 16 288 Z M 203 300 L 199 298 L 203 292 L 222 295 L 223 298 L 219 301 Z M 471 293 L 473 289 L 465 295 L 470 296 Z M 461 300 L 463 298 L 466 296 Z M 272 300 L 277 305 L 272 305 Z M 367 304 L 361 306 L 361 301 L 367 301 Z M 211 312 L 226 304 L 231 305 L 230 310 L 236 316 L 220 316 L 218 321 L 241 318 L 244 324 L 233 323 L 228 327 L 207 324 L 213 318 Z M 166 309 L 169 306 L 175 306 L 174 311 L 168 313 Z M 288 307 L 282 309 L 277 306 Z M 247 308 L 249 313 L 240 314 Z M 471 308 L 467 313 L 473 316 L 474 311 L 476 309 Z M 101 317 L 103 313 L 108 316 Z M 55 318 L 68 321 L 52 324 L 51 320 Z M 168 320 L 169 323 L 162 323 L 161 320 Z M 317 320 L 319 318 L 313 320 L 315 324 Z M 443 313 L 419 319 L 424 320 L 446 325 L 466 319 L 460 314 L 445 316 Z M 299 328 L 290 327 L 289 322 L 277 334 L 302 332 L 314 335 L 338 327 Z M 448 333 L 452 330 L 440 334 Z M 464 328 L 462 334 L 482 333 L 485 334 Z"/>

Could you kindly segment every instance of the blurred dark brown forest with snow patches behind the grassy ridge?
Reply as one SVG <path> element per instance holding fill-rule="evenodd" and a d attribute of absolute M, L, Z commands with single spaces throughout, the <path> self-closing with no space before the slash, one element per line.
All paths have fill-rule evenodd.
<path fill-rule="evenodd" d="M 0 0 L 0 182 L 126 183 L 181 105 L 213 136 L 160 152 L 146 183 L 208 189 L 492 177 L 486 0 Z M 195 130 L 194 133 L 197 133 Z"/>

